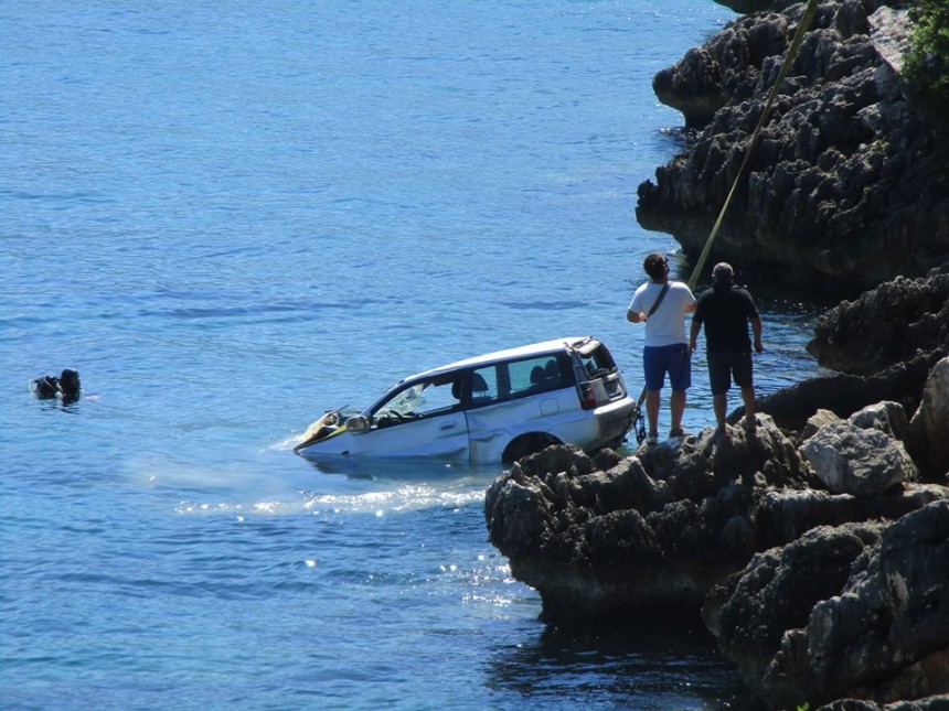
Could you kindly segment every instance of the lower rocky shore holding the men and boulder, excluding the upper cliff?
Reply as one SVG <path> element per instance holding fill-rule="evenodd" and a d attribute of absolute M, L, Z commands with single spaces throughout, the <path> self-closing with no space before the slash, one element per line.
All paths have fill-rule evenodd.
<path fill-rule="evenodd" d="M 551 624 L 701 616 L 767 708 L 949 709 L 948 309 L 949 265 L 841 303 L 809 349 L 844 371 L 727 439 L 520 460 L 491 542 Z"/>

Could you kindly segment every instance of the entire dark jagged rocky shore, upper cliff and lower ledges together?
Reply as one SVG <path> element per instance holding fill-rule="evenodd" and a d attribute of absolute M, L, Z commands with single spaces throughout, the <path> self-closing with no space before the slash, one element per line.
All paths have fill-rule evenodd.
<path fill-rule="evenodd" d="M 637 215 L 694 259 L 803 6 L 755 12 L 654 82 L 697 131 Z M 488 489 L 492 543 L 551 624 L 701 617 L 761 708 L 949 708 L 949 141 L 904 96 L 895 2 L 820 7 L 712 260 L 850 301 L 835 375 L 635 452 L 554 446 Z"/>

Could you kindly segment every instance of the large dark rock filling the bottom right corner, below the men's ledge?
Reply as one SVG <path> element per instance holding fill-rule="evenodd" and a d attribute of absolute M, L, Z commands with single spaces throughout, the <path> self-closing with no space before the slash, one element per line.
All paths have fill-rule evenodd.
<path fill-rule="evenodd" d="M 891 525 L 814 529 L 758 554 L 712 591 L 702 614 L 772 708 L 930 703 L 949 693 L 947 571 L 949 502 L 940 500 Z"/>

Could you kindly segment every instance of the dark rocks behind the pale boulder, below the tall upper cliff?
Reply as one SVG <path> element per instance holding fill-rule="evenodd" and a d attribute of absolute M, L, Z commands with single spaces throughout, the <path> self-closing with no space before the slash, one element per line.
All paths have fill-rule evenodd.
<path fill-rule="evenodd" d="M 949 263 L 926 277 L 897 277 L 818 319 L 808 351 L 842 373 L 761 398 L 757 408 L 782 428 L 801 430 L 820 410 L 840 418 L 879 401 L 913 421 L 895 432 L 923 481 L 946 483 L 949 470 Z M 733 419 L 740 417 L 737 410 Z"/>

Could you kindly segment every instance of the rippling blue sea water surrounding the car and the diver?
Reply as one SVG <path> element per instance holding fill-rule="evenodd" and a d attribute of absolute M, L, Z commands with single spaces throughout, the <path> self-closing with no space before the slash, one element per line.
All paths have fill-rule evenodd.
<path fill-rule="evenodd" d="M 0 3 L 0 705 L 740 708 L 699 625 L 539 622 L 487 539 L 500 468 L 290 452 L 408 373 L 562 335 L 638 391 L 626 305 L 675 243 L 636 188 L 683 123 L 651 79 L 732 17 Z M 760 305 L 767 392 L 818 370 L 817 310 Z M 64 367 L 82 399 L 34 400 Z"/>

